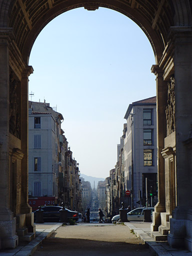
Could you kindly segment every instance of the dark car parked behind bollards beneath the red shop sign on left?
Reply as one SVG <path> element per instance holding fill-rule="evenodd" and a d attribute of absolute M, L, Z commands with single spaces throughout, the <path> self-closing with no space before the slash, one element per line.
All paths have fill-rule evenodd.
<path fill-rule="evenodd" d="M 62 209 L 61 206 L 44 206 L 41 208 L 43 210 L 43 220 L 44 222 L 58 222 L 60 217 L 59 210 Z M 78 220 L 78 211 L 72 211 L 67 208 L 67 219 L 72 218 L 75 221 Z M 36 220 L 36 210 L 34 211 L 34 222 Z"/>

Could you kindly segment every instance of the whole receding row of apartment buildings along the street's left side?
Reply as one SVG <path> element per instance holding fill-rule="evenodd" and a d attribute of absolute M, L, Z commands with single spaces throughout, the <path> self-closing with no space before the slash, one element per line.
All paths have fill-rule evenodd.
<path fill-rule="evenodd" d="M 61 129 L 63 116 L 46 102 L 29 101 L 28 203 L 81 210 L 79 170 Z"/>

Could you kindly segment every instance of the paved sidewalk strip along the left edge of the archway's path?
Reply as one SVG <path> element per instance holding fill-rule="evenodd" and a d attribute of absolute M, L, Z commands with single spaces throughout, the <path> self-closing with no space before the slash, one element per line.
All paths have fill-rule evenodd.
<path fill-rule="evenodd" d="M 49 237 L 62 223 L 35 224 L 35 238 L 25 245 L 18 245 L 14 249 L 0 250 L 0 256 L 30 256 L 34 253 L 42 241 Z"/>

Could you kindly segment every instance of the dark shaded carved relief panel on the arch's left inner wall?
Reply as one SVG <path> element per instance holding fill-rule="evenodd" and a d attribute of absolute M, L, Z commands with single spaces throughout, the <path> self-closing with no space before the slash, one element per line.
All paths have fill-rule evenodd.
<path fill-rule="evenodd" d="M 19 82 L 13 78 L 12 72 L 9 75 L 9 132 L 20 138 L 20 113 L 17 86 Z"/>

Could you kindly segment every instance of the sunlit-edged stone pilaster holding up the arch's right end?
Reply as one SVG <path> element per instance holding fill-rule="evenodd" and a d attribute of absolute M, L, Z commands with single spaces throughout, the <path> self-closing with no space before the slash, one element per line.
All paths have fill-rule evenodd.
<path fill-rule="evenodd" d="M 157 180 L 158 180 L 158 202 L 154 207 L 151 231 L 158 231 L 160 223 L 160 212 L 165 211 L 164 190 L 164 158 L 161 151 L 164 148 L 164 137 L 166 136 L 165 106 L 167 101 L 167 84 L 163 80 L 163 70 L 158 65 L 152 65 L 151 72 L 156 75 L 156 131 L 157 131 Z"/>

